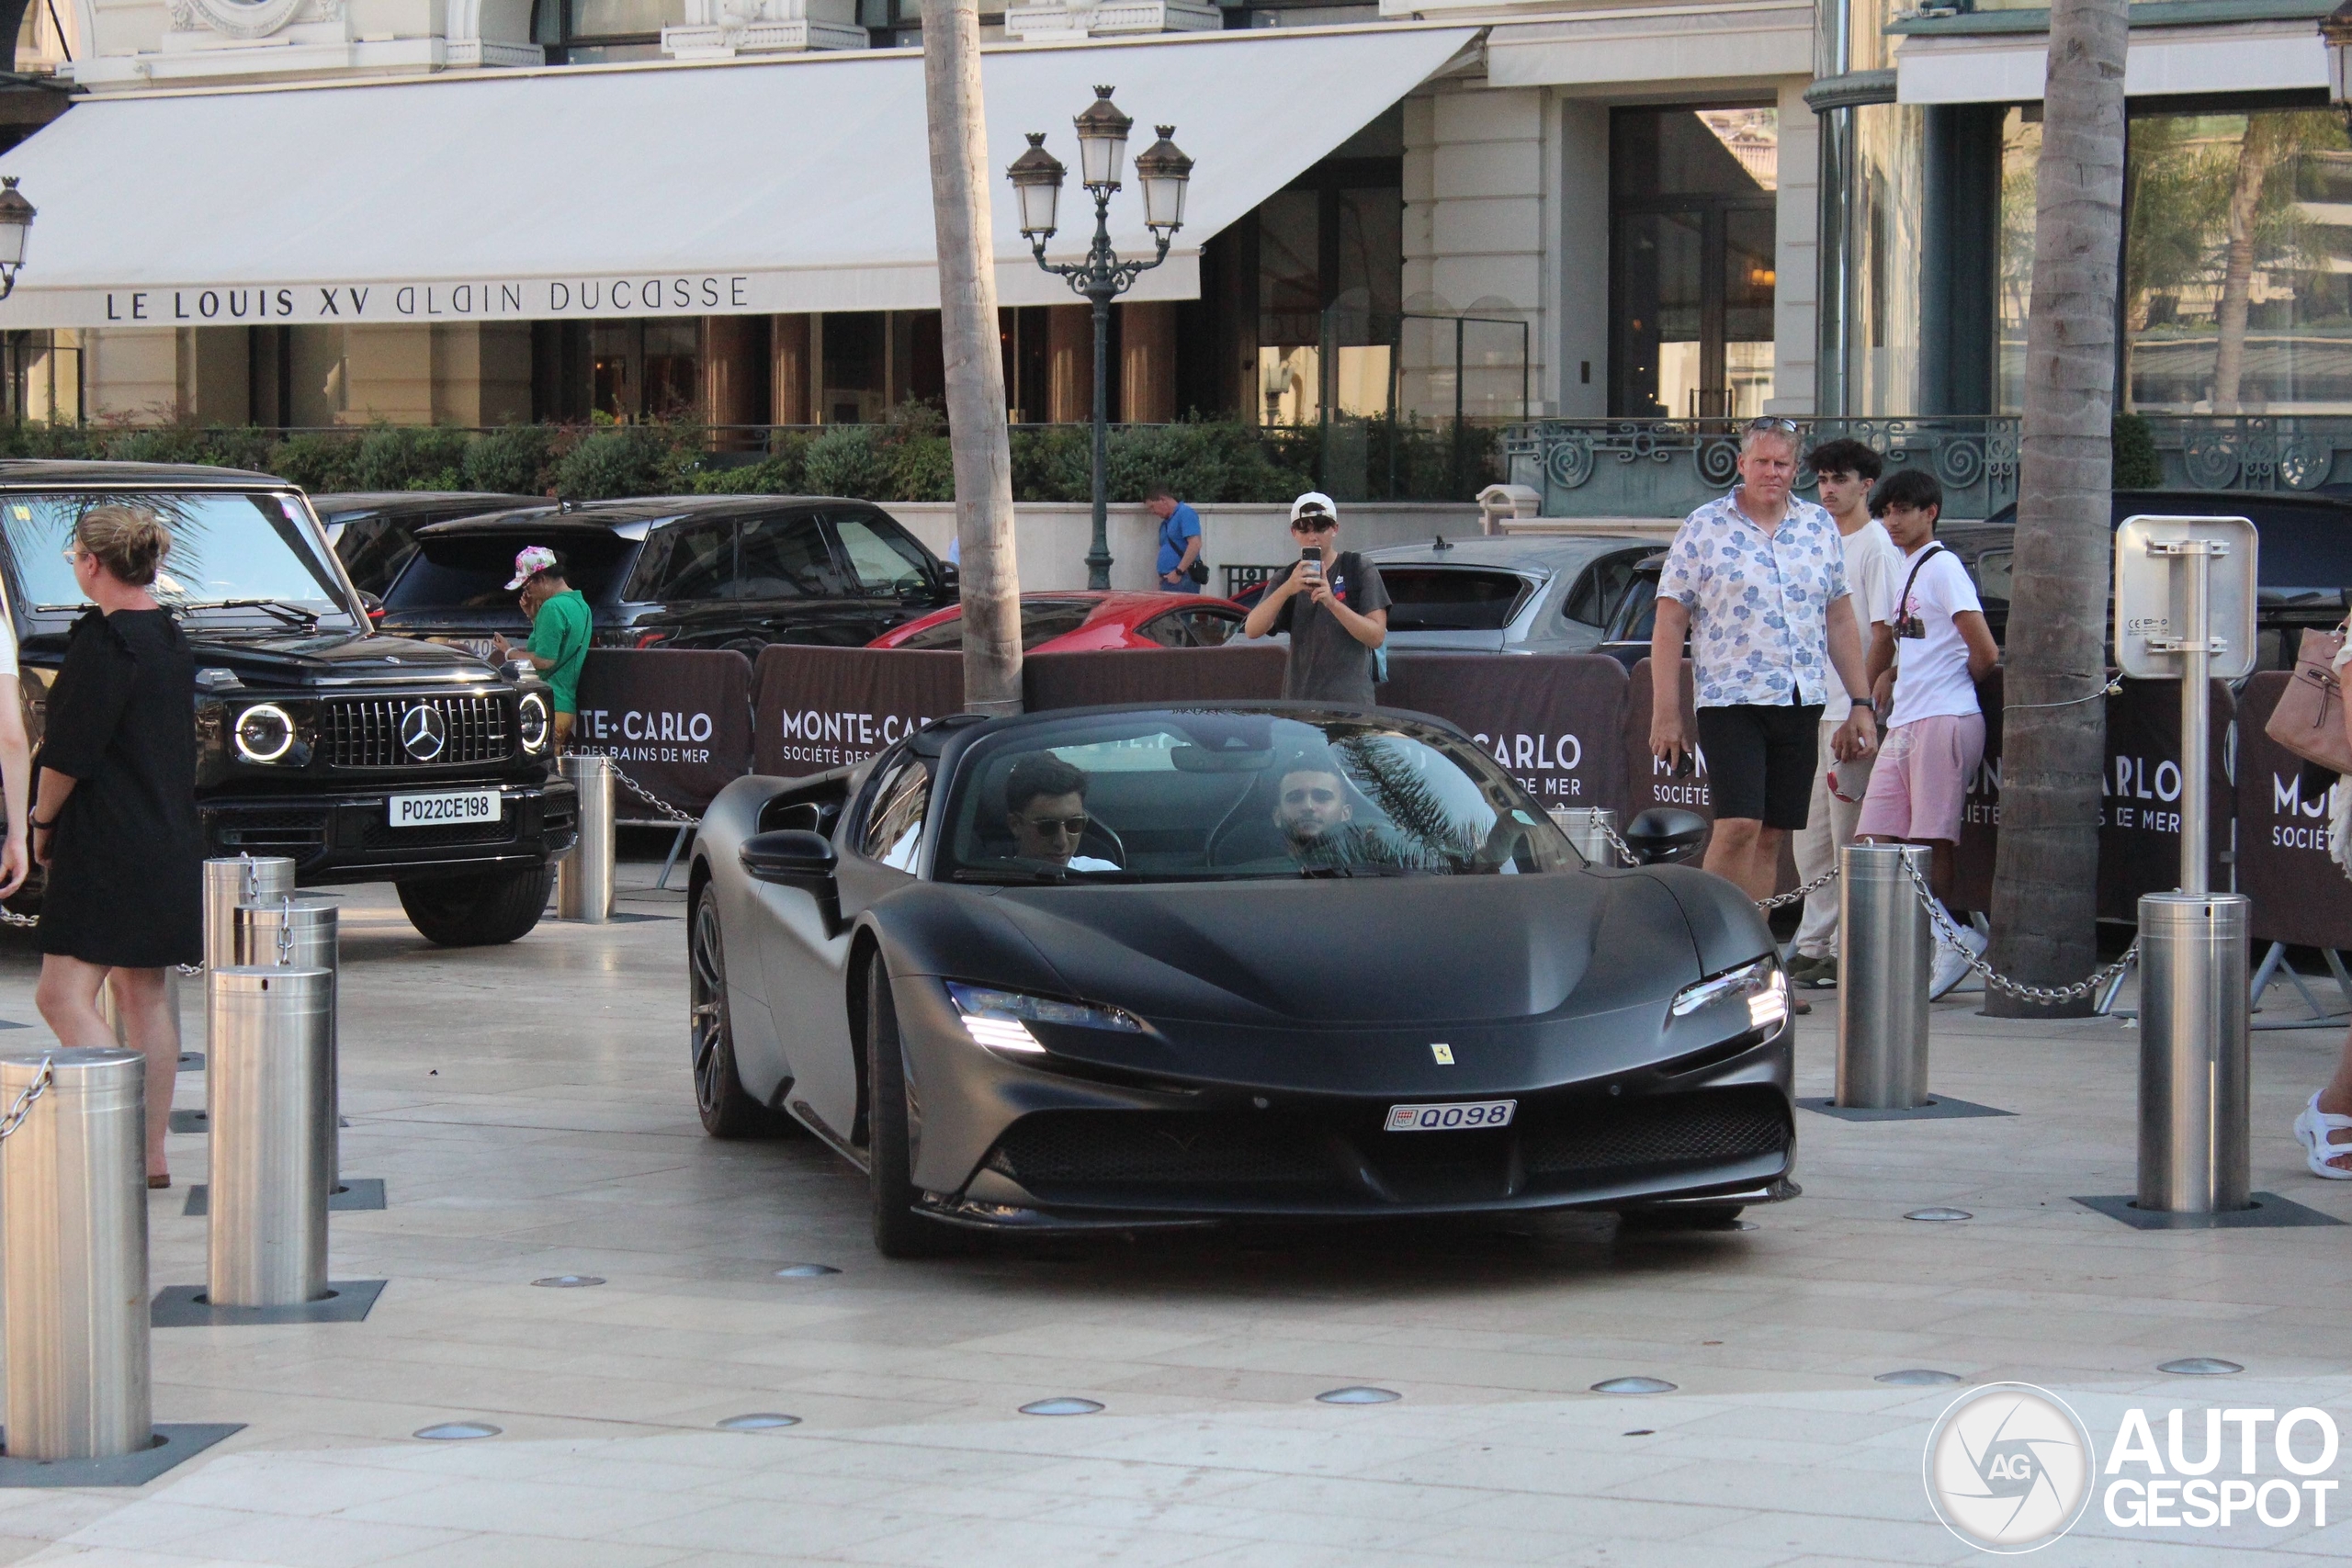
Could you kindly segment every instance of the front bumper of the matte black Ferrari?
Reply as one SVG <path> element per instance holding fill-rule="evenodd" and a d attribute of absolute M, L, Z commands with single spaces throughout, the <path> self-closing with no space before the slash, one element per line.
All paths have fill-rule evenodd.
<path fill-rule="evenodd" d="M 1588 1070 L 1548 1053 L 1536 1072 L 1501 1067 L 1517 1079 L 1432 1088 L 1435 1074 L 1399 1072 L 1392 1086 L 1334 1091 L 1296 1074 L 1249 1084 L 1033 1065 L 950 1034 L 953 1013 L 917 990 L 927 983 L 898 985 L 901 1027 L 922 1020 L 906 1030 L 922 1117 L 915 1180 L 927 1213 L 964 1225 L 1623 1211 L 1797 1192 L 1785 1020 L 1700 1053 L 1653 1041 L 1628 1060 L 1604 1041 L 1578 1053 Z M 1501 1098 L 1517 1100 L 1503 1128 L 1385 1131 L 1390 1105 Z"/>

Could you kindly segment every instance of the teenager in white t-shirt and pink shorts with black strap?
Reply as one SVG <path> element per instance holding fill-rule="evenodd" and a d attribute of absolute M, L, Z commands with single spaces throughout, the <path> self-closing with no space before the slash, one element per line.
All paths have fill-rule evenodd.
<path fill-rule="evenodd" d="M 1976 682 L 1999 663 L 2002 651 L 1969 569 L 1936 543 L 1936 517 L 1943 515 L 1936 477 L 1900 468 L 1870 494 L 1870 510 L 1903 552 L 1896 583 L 1870 616 L 1872 689 L 1896 665 L 1896 644 L 1903 661 L 1856 835 L 1879 844 L 1926 844 L 1933 853 L 1929 882 L 1938 898 L 1950 898 L 1969 778 L 1985 759 Z M 1962 943 L 1971 952 L 1985 950 L 1978 931 L 1962 929 Z M 1940 950 L 1929 994 L 1952 990 L 1966 971 L 1959 952 Z"/>

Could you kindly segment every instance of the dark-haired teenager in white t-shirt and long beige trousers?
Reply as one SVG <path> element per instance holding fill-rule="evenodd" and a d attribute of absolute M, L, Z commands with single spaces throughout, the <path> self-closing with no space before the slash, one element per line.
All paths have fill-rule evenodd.
<path fill-rule="evenodd" d="M 1886 527 L 1870 515 L 1870 487 L 1879 482 L 1886 461 L 1853 437 L 1823 442 L 1804 456 L 1813 470 L 1820 498 L 1830 520 L 1837 522 L 1837 543 L 1846 555 L 1846 585 L 1853 590 L 1853 618 L 1860 623 L 1863 644 L 1870 642 L 1870 616 L 1879 602 L 1893 592 L 1896 567 L 1903 555 L 1896 550 Z M 1842 686 L 1830 689 L 1830 701 L 1820 710 L 1820 743 L 1813 755 L 1813 809 L 1804 827 L 1792 835 L 1797 853 L 1797 882 L 1813 882 L 1837 865 L 1837 851 L 1853 842 L 1853 825 L 1863 813 L 1863 790 L 1870 788 L 1870 766 L 1877 752 L 1863 752 L 1839 762 L 1830 741 L 1844 726 L 1849 698 Z M 1804 919 L 1797 924 L 1797 940 L 1788 961 L 1788 978 L 1795 985 L 1837 985 L 1837 884 L 1806 893 Z"/>

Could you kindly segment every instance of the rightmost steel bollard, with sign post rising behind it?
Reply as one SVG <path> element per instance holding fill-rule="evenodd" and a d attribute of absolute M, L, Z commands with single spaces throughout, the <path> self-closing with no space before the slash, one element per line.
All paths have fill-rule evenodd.
<path fill-rule="evenodd" d="M 2140 898 L 2140 1208 L 2249 1206 L 2241 893 Z"/>

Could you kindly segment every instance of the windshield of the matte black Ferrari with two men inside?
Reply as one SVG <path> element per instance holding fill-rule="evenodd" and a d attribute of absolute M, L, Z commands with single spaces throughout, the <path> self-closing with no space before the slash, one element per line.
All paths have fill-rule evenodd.
<path fill-rule="evenodd" d="M 1479 748 L 1338 712 L 1115 712 L 1023 724 L 957 769 L 955 882 L 1463 877 L 1581 867 Z"/>

